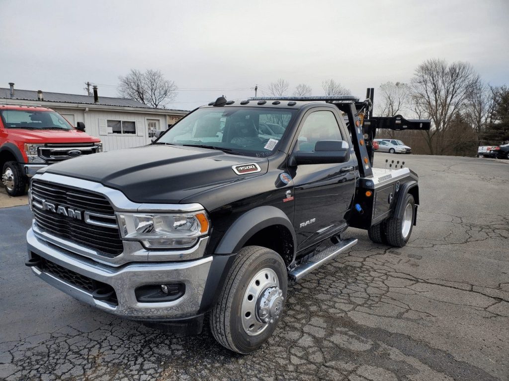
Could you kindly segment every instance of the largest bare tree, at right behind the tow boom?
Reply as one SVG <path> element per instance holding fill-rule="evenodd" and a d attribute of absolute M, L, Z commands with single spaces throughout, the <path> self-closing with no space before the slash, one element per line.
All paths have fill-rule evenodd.
<path fill-rule="evenodd" d="M 442 133 L 465 110 L 469 94 L 479 81 L 468 62 L 449 64 L 442 59 L 429 59 L 415 69 L 410 82 L 414 110 L 432 120 L 432 129 L 425 134 L 429 153 L 442 153 Z"/>

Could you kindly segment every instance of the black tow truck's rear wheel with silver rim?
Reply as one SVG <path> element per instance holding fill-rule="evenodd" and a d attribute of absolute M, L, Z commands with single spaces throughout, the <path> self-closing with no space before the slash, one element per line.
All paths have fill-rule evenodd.
<path fill-rule="evenodd" d="M 399 215 L 393 215 L 385 221 L 385 237 L 391 246 L 403 247 L 412 234 L 415 213 L 413 196 L 407 194 Z"/>

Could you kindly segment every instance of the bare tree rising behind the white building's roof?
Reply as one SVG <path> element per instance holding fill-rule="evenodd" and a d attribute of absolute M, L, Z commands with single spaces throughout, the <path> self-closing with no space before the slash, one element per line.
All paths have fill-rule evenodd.
<path fill-rule="evenodd" d="M 135 99 L 155 108 L 164 108 L 177 97 L 177 85 L 164 78 L 160 70 L 147 69 L 145 73 L 137 69 L 124 77 L 119 77 L 119 95 Z"/>

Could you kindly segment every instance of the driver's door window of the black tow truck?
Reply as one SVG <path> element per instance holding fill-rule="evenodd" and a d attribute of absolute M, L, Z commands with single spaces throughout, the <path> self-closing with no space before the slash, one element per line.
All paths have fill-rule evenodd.
<path fill-rule="evenodd" d="M 319 140 L 343 140 L 340 126 L 331 111 L 315 111 L 304 120 L 299 137 L 297 151 L 314 151 Z"/>

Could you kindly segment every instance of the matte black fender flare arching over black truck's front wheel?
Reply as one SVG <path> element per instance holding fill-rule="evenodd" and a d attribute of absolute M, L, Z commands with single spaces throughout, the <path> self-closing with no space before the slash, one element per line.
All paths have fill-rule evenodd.
<path fill-rule="evenodd" d="M 224 234 L 215 249 L 215 254 L 238 252 L 254 234 L 272 225 L 282 225 L 290 231 L 293 239 L 293 256 L 295 258 L 297 236 L 295 235 L 293 224 L 285 212 L 275 206 L 259 206 L 242 214 Z"/>

